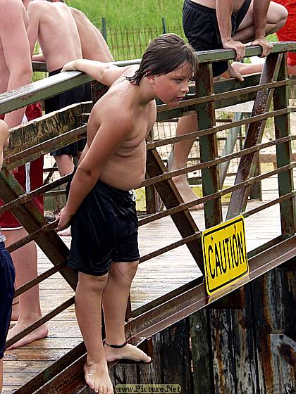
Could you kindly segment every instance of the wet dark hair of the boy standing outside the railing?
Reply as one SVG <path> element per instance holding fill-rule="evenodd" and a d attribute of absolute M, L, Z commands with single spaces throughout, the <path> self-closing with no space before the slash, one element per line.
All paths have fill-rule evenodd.
<path fill-rule="evenodd" d="M 168 74 L 184 63 L 192 65 L 192 79 L 194 79 L 197 70 L 195 50 L 189 44 L 185 44 L 177 34 L 162 34 L 147 46 L 135 75 L 126 79 L 138 85 L 147 75 Z"/>

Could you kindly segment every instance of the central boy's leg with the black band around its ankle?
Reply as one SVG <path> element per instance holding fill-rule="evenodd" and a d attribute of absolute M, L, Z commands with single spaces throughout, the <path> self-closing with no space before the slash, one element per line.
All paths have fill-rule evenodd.
<path fill-rule="evenodd" d="M 112 262 L 106 288 L 103 293 L 103 309 L 106 329 L 106 343 L 123 345 L 125 343 L 125 311 L 130 294 L 130 285 L 137 271 L 138 261 Z M 128 358 L 136 361 L 150 362 L 151 359 L 142 350 L 127 344 L 122 348 L 105 346 L 109 362 Z"/>

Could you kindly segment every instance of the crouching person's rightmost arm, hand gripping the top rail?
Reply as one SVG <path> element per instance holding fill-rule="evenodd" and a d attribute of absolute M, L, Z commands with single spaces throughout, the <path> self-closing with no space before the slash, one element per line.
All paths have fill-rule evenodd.
<path fill-rule="evenodd" d="M 253 15 L 255 25 L 255 39 L 252 45 L 262 47 L 261 58 L 264 58 L 271 51 L 272 45 L 265 38 L 265 27 L 267 22 L 267 12 L 269 11 L 270 0 L 254 0 Z"/>

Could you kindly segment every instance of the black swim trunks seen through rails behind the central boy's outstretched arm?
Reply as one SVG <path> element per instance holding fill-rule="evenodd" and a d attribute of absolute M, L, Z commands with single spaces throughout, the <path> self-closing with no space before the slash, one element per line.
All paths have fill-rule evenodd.
<path fill-rule="evenodd" d="M 54 70 L 49 72 L 49 77 L 51 75 L 56 75 L 61 72 L 61 68 L 59 70 Z M 83 103 L 84 101 L 92 101 L 92 90 L 90 87 L 90 83 L 82 85 L 80 87 L 75 87 L 75 89 L 65 91 L 61 94 L 57 94 L 54 97 L 47 98 L 45 103 L 45 113 L 51 113 L 56 110 L 60 110 L 61 108 L 65 108 L 75 103 Z M 85 148 L 87 139 L 80 139 L 73 144 L 63 146 L 63 148 L 58 149 L 57 151 L 51 152 L 51 155 L 70 155 L 73 157 L 78 156 L 78 152 L 82 152 Z"/>

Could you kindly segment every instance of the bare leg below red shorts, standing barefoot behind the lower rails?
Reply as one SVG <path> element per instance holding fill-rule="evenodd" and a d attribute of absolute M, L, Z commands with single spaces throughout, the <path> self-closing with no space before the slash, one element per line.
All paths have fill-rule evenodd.
<path fill-rule="evenodd" d="M 27 235 L 25 229 L 3 231 L 3 233 L 6 236 L 6 246 Z M 27 245 L 14 251 L 11 253 L 11 257 L 16 268 L 16 282 L 18 286 L 23 286 L 23 284 L 37 277 L 37 248 L 35 242 L 27 243 Z M 42 312 L 39 301 L 39 286 L 34 286 L 20 295 L 20 316 L 16 325 L 8 332 L 8 339 L 16 336 L 17 333 L 26 329 L 27 326 L 36 322 L 40 317 L 42 317 Z M 47 333 L 48 329 L 44 324 L 12 345 L 10 349 L 44 338 L 47 336 Z"/>

